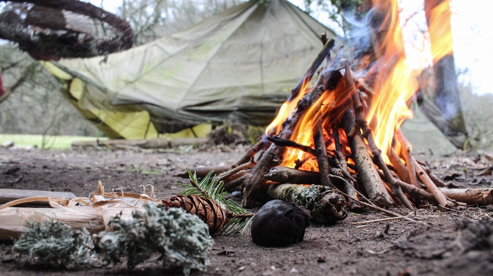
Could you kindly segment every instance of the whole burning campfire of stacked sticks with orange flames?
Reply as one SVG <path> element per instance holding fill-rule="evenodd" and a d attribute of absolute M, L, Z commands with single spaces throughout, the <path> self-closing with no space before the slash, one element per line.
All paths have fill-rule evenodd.
<path fill-rule="evenodd" d="M 452 53 L 450 29 L 435 28 L 439 20 L 449 20 L 444 5 L 448 1 L 427 10 L 434 61 Z M 334 40 L 321 37 L 323 50 L 266 134 L 219 176 L 226 188 L 241 185 L 243 206 L 253 207 L 266 191 L 283 198 L 272 195 L 272 185 L 279 183 L 336 188 L 354 210 L 362 201 L 409 209 L 428 203 L 464 205 L 449 189 L 439 188 L 445 183 L 413 157 L 400 131 L 401 123 L 412 117 L 407 102 L 418 90 L 421 72 L 408 65 L 397 8 L 396 1 L 373 1 L 370 25 L 378 26 L 373 48 L 356 61 L 345 58 L 342 49 L 331 56 Z M 326 59 L 327 65 L 315 72 Z"/>

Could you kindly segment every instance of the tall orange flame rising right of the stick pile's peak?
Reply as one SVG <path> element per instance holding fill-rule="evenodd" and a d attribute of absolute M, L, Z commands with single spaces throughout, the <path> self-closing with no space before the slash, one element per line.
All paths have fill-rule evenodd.
<path fill-rule="evenodd" d="M 367 121 L 373 130 L 376 145 L 388 161 L 386 153 L 391 146 L 394 130 L 405 119 L 412 117 L 406 101 L 418 89 L 418 82 L 406 60 L 397 1 L 380 0 L 373 3 L 377 12 L 385 14 L 381 30 L 386 34 L 378 45 L 381 57 L 371 70 L 376 72 L 377 81 Z M 389 6 L 390 9 L 387 8 Z"/>

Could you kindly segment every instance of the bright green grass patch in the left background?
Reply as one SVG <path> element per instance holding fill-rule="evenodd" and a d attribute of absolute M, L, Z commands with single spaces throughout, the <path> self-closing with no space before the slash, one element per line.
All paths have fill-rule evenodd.
<path fill-rule="evenodd" d="M 73 141 L 96 141 L 108 140 L 106 137 L 87 137 L 87 136 L 45 136 L 45 148 L 64 150 L 72 146 Z M 27 146 L 36 145 L 41 148 L 43 141 L 42 135 L 31 134 L 0 134 L 0 144 L 7 141 L 13 141 L 15 145 Z"/>

